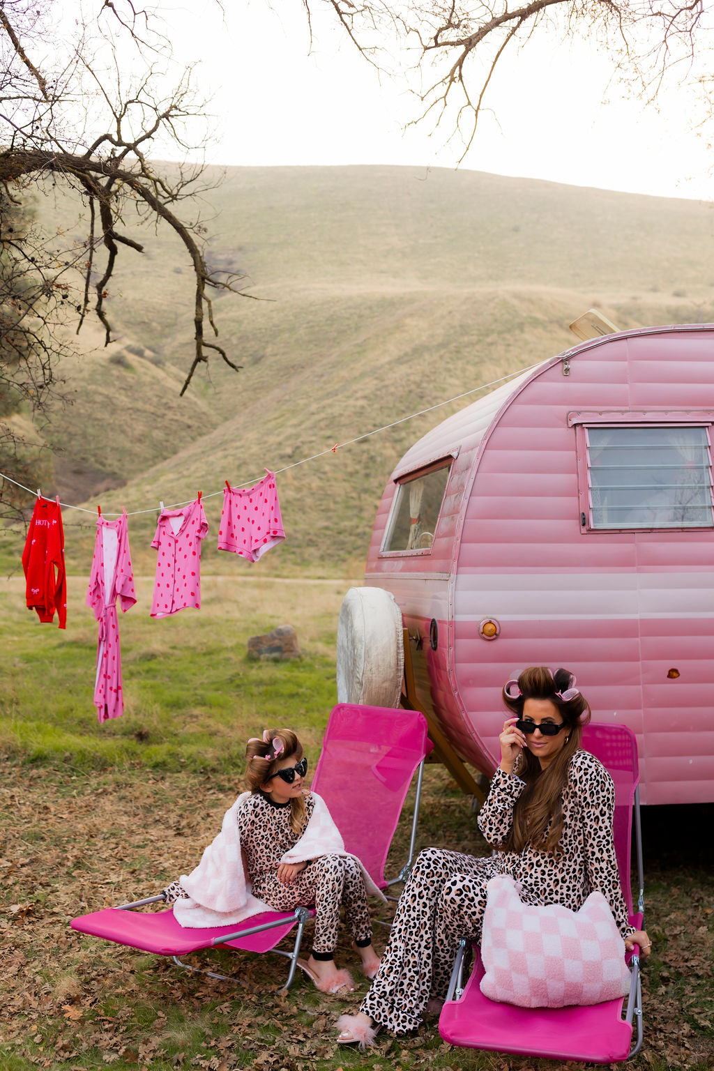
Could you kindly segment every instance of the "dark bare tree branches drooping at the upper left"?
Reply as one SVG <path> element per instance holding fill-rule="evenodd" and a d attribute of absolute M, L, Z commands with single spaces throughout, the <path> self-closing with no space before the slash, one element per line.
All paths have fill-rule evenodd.
<path fill-rule="evenodd" d="M 40 44 L 48 40 L 50 3 L 0 2 L 0 183 L 21 199 L 31 184 L 57 182 L 75 191 L 78 201 L 88 202 L 80 261 L 83 292 L 75 305 L 77 330 L 86 320 L 93 287 L 93 313 L 104 328 L 105 343 L 110 342 L 105 299 L 117 258 L 122 247 L 137 253 L 143 248 L 126 233 L 123 212 L 127 205 L 142 206 L 148 216 L 171 227 L 194 271 L 196 357 L 182 393 L 197 364 L 208 361 L 209 349 L 238 368 L 222 347 L 206 343 L 203 321 L 208 320 L 216 336 L 209 290 L 248 297 L 245 280 L 210 272 L 198 233 L 201 228 L 178 212 L 179 203 L 198 192 L 200 168 L 159 172 L 147 155 L 158 136 L 168 135 L 179 150 L 189 148 L 183 130 L 200 112 L 193 99 L 192 67 L 177 72 L 174 88 L 165 95 L 170 42 L 157 28 L 154 12 L 139 9 L 134 0 L 101 0 L 96 26 L 80 25 L 69 48 L 58 49 L 57 69 L 41 71 L 29 58 L 30 45 L 35 42 L 40 54 Z M 123 73 L 125 55 L 120 62 L 120 44 L 133 47 L 138 60 L 131 75 Z M 79 100 L 91 104 L 82 108 Z M 103 125 L 97 130 L 98 123 Z M 88 138 L 86 131 L 92 131 Z M 104 256 L 97 277 L 100 251 Z M 35 261 L 42 259 L 39 248 L 34 254 Z"/>

